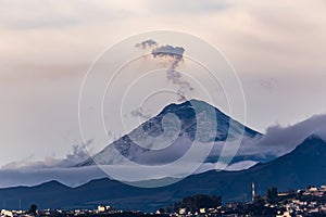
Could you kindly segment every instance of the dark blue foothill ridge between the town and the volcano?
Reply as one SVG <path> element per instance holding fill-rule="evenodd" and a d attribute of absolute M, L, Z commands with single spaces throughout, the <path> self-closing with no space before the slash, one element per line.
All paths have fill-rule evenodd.
<path fill-rule="evenodd" d="M 175 184 L 140 189 L 115 180 L 93 180 L 77 188 L 67 188 L 49 182 L 33 188 L 1 189 L 0 197 L 8 207 L 17 208 L 30 203 L 40 207 L 74 208 L 95 207 L 98 204 L 113 204 L 120 208 L 154 210 L 177 201 L 185 195 L 197 193 L 218 194 L 223 201 L 243 201 L 251 197 L 251 182 L 256 193 L 264 193 L 268 187 L 280 191 L 300 189 L 310 184 L 326 183 L 326 142 L 318 137 L 304 140 L 291 153 L 269 163 L 259 164 L 241 171 L 208 171 L 192 175 Z"/>

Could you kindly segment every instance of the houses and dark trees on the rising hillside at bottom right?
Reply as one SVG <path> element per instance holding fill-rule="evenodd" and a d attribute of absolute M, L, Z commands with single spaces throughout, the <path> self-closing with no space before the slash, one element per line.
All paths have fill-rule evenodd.
<path fill-rule="evenodd" d="M 218 217 L 326 217 L 326 186 L 309 187 L 305 190 L 281 192 L 277 194 L 278 202 L 275 204 L 264 201 L 259 202 L 234 202 L 215 208 L 200 208 L 191 213 L 186 208 L 170 214 L 173 217 L 192 216 L 218 216 Z M 159 210 L 158 210 L 159 212 Z"/>

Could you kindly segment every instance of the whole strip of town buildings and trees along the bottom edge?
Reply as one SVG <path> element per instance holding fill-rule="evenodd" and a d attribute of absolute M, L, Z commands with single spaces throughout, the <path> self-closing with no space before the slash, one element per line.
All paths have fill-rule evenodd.
<path fill-rule="evenodd" d="M 95 209 L 37 209 L 32 204 L 28 210 L 1 210 L 1 217 L 104 217 L 104 216 L 216 216 L 216 217 L 319 217 L 326 216 L 326 186 L 308 187 L 306 189 L 278 192 L 276 188 L 268 188 L 266 194 L 255 195 L 252 183 L 252 199 L 250 202 L 222 203 L 217 195 L 197 194 L 186 196 L 181 201 L 168 204 L 153 213 L 139 210 L 121 210 L 112 205 L 98 205 Z"/>

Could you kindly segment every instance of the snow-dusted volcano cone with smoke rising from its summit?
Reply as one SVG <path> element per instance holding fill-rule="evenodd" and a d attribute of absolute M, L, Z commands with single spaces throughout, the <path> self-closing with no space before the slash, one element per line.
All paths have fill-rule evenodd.
<path fill-rule="evenodd" d="M 175 132 L 178 128 L 176 126 L 177 120 L 172 119 L 170 123 L 165 123 L 165 127 L 167 127 L 163 128 L 164 117 L 171 114 L 176 115 L 180 122 L 180 131 L 175 140 L 172 139 L 173 136 L 168 135 L 170 132 L 166 129 L 171 128 L 171 133 Z M 186 153 L 195 139 L 202 142 L 203 145 L 205 142 L 215 141 L 214 148 L 216 149 L 213 149 L 214 151 L 206 159 L 206 162 L 212 163 L 218 159 L 222 143 L 227 137 L 240 137 L 241 129 L 243 129 L 244 138 L 260 136 L 259 132 L 231 119 L 203 101 L 190 100 L 181 104 L 170 104 L 159 115 L 150 118 L 130 133 L 123 136 L 77 166 L 95 165 L 95 162 L 100 165 L 120 164 L 124 157 L 138 164 L 167 164 L 178 159 Z M 201 132 L 198 136 L 199 138 L 196 138 L 198 131 Z M 160 138 L 164 133 L 166 136 Z M 139 142 L 135 142 L 135 140 L 147 145 L 142 144 L 140 146 L 137 144 Z M 168 142 L 168 140 L 172 141 Z M 150 149 L 153 145 L 166 143 L 166 141 L 168 143 L 166 148 Z M 255 156 L 252 157 L 256 159 Z"/>

